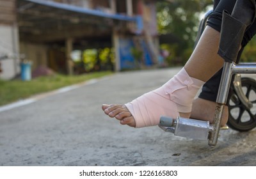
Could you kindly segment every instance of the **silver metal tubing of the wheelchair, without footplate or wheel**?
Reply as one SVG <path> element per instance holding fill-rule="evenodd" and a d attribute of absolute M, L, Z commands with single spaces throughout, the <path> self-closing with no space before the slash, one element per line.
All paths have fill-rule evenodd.
<path fill-rule="evenodd" d="M 207 19 L 209 18 L 209 15 L 211 15 L 212 10 L 205 13 L 204 19 L 201 20 L 200 27 L 198 29 L 198 36 L 196 37 L 195 44 L 198 43 L 198 40 L 200 39 L 200 36 L 202 35 L 204 28 L 206 26 Z M 253 105 L 248 100 L 248 98 L 244 95 L 242 86 L 241 86 L 241 75 L 240 74 L 256 74 L 256 63 L 229 63 L 224 62 L 223 65 L 223 72 L 221 75 L 221 81 L 220 81 L 220 88 L 218 90 L 218 96 L 216 99 L 216 109 L 215 109 L 215 115 L 214 115 L 214 121 L 212 123 L 212 131 L 209 135 L 209 145 L 210 146 L 216 146 L 216 143 L 218 141 L 218 135 L 220 132 L 220 122 L 221 122 L 221 116 L 223 114 L 224 106 L 227 104 L 227 98 L 228 98 L 228 91 L 230 88 L 230 84 L 232 81 L 232 75 L 235 75 L 234 77 L 234 89 L 236 90 L 237 96 L 239 97 L 239 100 L 248 107 L 248 109 L 252 108 Z"/>

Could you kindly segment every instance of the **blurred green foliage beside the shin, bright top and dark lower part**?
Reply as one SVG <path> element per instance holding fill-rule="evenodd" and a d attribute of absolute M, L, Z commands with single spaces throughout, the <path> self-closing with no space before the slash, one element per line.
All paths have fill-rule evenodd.
<path fill-rule="evenodd" d="M 209 8 L 212 8 L 212 0 L 174 0 L 172 3 L 166 1 L 157 3 L 159 33 L 171 33 L 179 40 L 169 44 L 170 47 L 175 48 L 170 51 L 172 60 L 167 59 L 170 65 L 184 64 L 188 60 L 189 52 L 195 43 L 201 16 Z"/>

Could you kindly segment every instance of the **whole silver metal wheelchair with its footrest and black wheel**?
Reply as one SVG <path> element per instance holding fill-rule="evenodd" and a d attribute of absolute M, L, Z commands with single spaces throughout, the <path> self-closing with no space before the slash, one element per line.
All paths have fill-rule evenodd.
<path fill-rule="evenodd" d="M 200 22 L 195 46 L 211 13 L 212 10 L 205 13 Z M 251 77 L 242 77 L 243 74 L 256 74 L 256 63 L 225 61 L 212 124 L 209 121 L 161 116 L 159 127 L 176 136 L 208 140 L 209 146 L 214 147 L 218 141 L 223 108 L 228 105 L 227 126 L 239 132 L 252 130 L 256 127 L 256 81 Z"/>

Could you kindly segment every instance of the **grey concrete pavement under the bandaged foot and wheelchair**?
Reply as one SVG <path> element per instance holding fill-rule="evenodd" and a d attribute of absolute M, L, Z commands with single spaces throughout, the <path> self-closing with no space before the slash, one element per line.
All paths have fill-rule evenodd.
<path fill-rule="evenodd" d="M 179 70 L 117 73 L 0 107 L 0 166 L 256 166 L 255 130 L 221 130 L 211 148 L 159 127 L 120 125 L 101 110 L 158 88 Z"/>

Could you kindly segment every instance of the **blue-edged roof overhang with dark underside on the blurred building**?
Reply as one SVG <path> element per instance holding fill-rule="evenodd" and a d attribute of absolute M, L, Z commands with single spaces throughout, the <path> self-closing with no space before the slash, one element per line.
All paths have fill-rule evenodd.
<path fill-rule="evenodd" d="M 70 4 L 42 0 L 17 1 L 21 40 L 52 42 L 67 38 L 111 35 L 112 27 L 140 21 L 139 17 L 105 13 Z"/>

